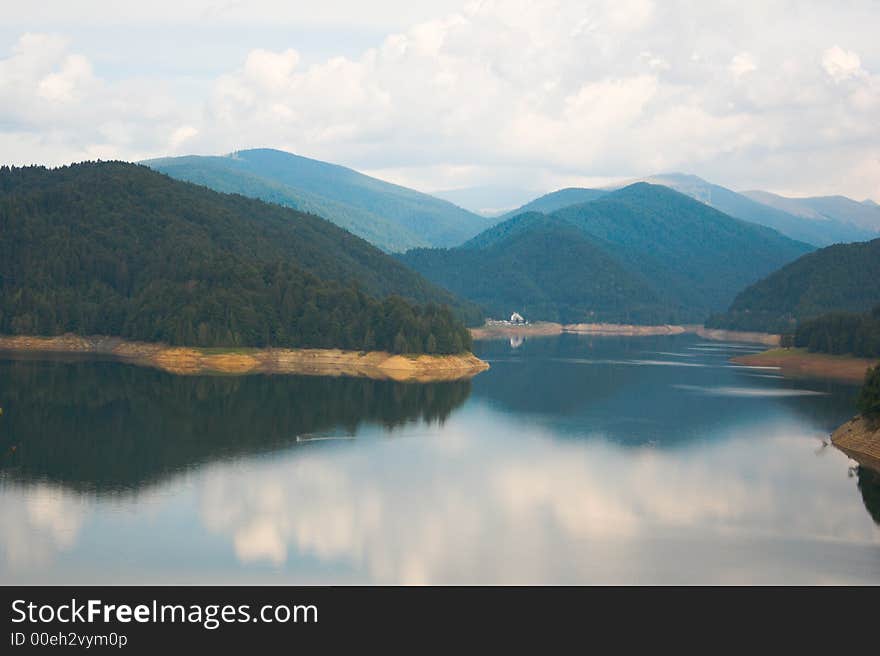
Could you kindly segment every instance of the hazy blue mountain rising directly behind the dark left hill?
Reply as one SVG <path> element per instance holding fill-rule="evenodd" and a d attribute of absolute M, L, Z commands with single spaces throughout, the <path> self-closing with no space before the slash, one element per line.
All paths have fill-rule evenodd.
<path fill-rule="evenodd" d="M 495 221 L 352 169 L 271 149 L 144 162 L 173 178 L 321 216 L 379 246 L 453 246 Z"/>

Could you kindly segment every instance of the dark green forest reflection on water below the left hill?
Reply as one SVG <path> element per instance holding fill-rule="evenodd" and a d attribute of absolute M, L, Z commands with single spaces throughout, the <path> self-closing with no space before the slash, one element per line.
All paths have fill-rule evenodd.
<path fill-rule="evenodd" d="M 0 472 L 98 492 L 362 422 L 444 421 L 469 381 L 174 376 L 113 362 L 0 361 Z"/>

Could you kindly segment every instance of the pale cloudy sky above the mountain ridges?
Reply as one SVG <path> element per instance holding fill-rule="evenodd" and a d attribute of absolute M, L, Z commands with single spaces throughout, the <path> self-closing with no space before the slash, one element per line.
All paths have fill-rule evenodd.
<path fill-rule="evenodd" d="M 3 4 L 6 164 L 274 147 L 429 192 L 880 201 L 876 0 Z"/>

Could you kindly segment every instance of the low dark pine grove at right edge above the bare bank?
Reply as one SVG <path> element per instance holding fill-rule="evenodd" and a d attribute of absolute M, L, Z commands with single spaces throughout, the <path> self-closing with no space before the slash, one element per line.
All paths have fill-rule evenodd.
<path fill-rule="evenodd" d="M 810 351 L 880 357 L 880 305 L 871 312 L 834 312 L 803 321 L 794 333 L 794 345 Z"/>

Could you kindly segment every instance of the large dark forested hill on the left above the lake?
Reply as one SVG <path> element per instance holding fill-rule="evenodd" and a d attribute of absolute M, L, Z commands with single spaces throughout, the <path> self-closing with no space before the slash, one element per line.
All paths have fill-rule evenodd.
<path fill-rule="evenodd" d="M 450 303 L 316 216 L 122 162 L 0 169 L 0 333 L 453 352 Z"/>

